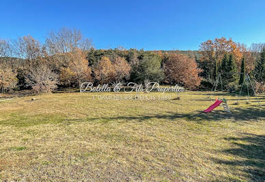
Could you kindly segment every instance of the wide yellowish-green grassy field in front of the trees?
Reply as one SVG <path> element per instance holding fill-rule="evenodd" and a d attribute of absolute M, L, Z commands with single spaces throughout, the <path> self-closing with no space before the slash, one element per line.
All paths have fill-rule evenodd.
<path fill-rule="evenodd" d="M 232 114 L 223 107 L 205 114 L 214 103 L 207 94 L 99 101 L 110 94 L 60 93 L 1 101 L 0 181 L 265 181 L 264 108 L 254 98 L 233 105 L 236 96 L 225 95 Z"/>

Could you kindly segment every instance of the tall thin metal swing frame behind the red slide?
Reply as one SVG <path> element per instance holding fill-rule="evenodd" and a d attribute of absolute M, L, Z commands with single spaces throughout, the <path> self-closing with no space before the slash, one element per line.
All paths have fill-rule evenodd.
<path fill-rule="evenodd" d="M 242 86 L 241 86 L 240 92 L 239 92 L 239 94 L 238 94 L 238 100 L 237 100 L 237 103 L 236 103 L 236 104 L 239 104 L 240 96 L 241 96 L 242 88 L 243 88 L 244 84 L 245 84 L 245 86 L 247 86 L 247 100 L 248 100 L 247 103 L 250 102 L 250 100 L 249 100 L 249 98 L 250 98 L 250 96 L 249 96 L 249 87 L 250 87 L 250 86 L 251 86 L 251 88 L 252 88 L 252 90 L 253 90 L 253 93 L 254 93 L 254 95 L 255 95 L 255 98 L 257 99 L 257 95 L 256 95 L 256 93 L 255 93 L 255 89 L 254 89 L 254 87 L 253 87 L 253 84 L 252 84 L 252 82 L 251 82 L 251 78 L 249 77 L 249 74 L 248 74 L 248 73 L 219 73 L 218 76 L 217 76 L 216 81 L 214 82 L 214 86 L 212 87 L 212 92 L 211 92 L 212 96 L 214 96 L 215 92 L 217 92 L 217 86 L 219 85 L 219 83 L 221 84 L 221 91 L 223 91 L 223 81 L 222 81 L 222 77 L 221 77 L 221 75 L 225 75 L 225 74 L 230 74 L 230 75 L 231 75 L 231 74 L 237 74 L 237 75 L 245 74 L 245 79 L 244 79 L 244 81 L 243 81 L 243 83 L 242 83 Z M 249 85 L 250 85 L 250 86 L 249 86 Z M 210 98 L 210 95 L 209 95 L 209 98 Z M 262 107 L 262 105 L 260 104 L 259 99 L 257 99 L 257 103 L 260 105 L 260 107 Z M 226 103 L 226 105 L 227 105 L 227 103 Z M 226 107 L 226 106 L 225 106 L 225 107 Z M 227 105 L 227 108 L 228 108 L 228 105 Z"/>

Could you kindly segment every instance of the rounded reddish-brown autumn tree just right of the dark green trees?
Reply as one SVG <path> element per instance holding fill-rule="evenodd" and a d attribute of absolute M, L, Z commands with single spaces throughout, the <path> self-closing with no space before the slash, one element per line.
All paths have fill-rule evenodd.
<path fill-rule="evenodd" d="M 170 54 L 165 62 L 165 77 L 171 83 L 180 83 L 185 88 L 195 89 L 201 83 L 197 63 L 188 55 Z"/>

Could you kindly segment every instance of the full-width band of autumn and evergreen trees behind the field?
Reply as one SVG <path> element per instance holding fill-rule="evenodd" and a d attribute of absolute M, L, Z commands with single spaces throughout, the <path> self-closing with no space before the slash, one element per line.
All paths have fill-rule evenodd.
<path fill-rule="evenodd" d="M 95 49 L 92 39 L 84 38 L 78 29 L 64 27 L 49 32 L 44 44 L 32 36 L 0 39 L 0 90 L 51 92 L 79 88 L 85 81 L 94 85 L 157 81 L 196 90 L 212 86 L 218 73 L 234 71 L 251 73 L 263 87 L 263 47 L 252 44 L 247 48 L 219 38 L 201 43 L 199 54 L 122 47 L 103 50 Z M 235 81 L 227 77 L 227 86 Z"/>

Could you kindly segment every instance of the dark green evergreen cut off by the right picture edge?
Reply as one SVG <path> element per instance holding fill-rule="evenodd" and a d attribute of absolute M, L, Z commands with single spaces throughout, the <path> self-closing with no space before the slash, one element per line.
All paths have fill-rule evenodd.
<path fill-rule="evenodd" d="M 260 53 L 260 59 L 256 62 L 254 76 L 255 79 L 259 82 L 265 80 L 265 47 Z"/>

